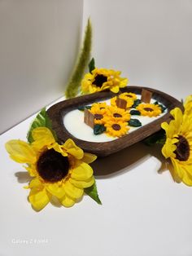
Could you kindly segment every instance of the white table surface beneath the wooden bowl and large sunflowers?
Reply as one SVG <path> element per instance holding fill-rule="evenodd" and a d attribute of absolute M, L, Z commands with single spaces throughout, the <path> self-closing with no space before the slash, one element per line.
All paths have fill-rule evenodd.
<path fill-rule="evenodd" d="M 32 120 L 0 137 L 1 256 L 192 255 L 192 188 L 159 174 L 155 150 L 142 143 L 94 164 L 103 205 L 84 196 L 72 208 L 32 210 L 24 168 L 4 148 L 25 139 Z"/>

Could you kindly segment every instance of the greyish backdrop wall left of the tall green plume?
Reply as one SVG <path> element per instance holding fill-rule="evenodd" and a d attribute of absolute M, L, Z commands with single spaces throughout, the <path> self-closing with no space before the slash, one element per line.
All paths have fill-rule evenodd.
<path fill-rule="evenodd" d="M 83 0 L 0 1 L 0 133 L 63 95 Z"/>

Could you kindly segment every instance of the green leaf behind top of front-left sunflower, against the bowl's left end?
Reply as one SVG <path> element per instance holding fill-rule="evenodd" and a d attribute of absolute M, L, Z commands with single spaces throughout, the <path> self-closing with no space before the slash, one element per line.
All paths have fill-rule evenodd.
<path fill-rule="evenodd" d="M 48 115 L 46 113 L 46 108 L 41 109 L 41 112 L 37 114 L 37 117 L 35 118 L 35 120 L 31 124 L 31 126 L 28 130 L 28 134 L 27 134 L 28 143 L 33 143 L 34 140 L 33 140 L 33 137 L 32 137 L 32 131 L 33 131 L 33 129 L 35 129 L 37 127 L 47 127 L 47 128 L 49 128 L 50 131 L 52 132 L 52 134 L 54 135 L 55 140 L 57 140 L 55 130 L 52 130 L 52 125 L 51 125 L 50 118 L 48 117 Z"/>

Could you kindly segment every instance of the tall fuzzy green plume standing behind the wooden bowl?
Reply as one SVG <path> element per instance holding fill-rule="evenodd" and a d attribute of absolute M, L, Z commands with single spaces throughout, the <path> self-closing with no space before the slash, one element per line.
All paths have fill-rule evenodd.
<path fill-rule="evenodd" d="M 76 68 L 72 73 L 72 77 L 68 83 L 67 89 L 65 91 L 66 98 L 75 97 L 78 93 L 78 89 L 81 86 L 81 79 L 85 73 L 85 68 L 89 63 L 90 51 L 91 51 L 91 39 L 92 39 L 92 28 L 90 20 L 88 20 L 85 29 L 85 38 L 83 42 L 83 48 L 76 61 Z"/>

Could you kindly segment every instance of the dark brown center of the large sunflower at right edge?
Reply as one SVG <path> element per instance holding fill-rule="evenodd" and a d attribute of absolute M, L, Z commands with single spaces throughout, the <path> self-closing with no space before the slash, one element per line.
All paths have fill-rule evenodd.
<path fill-rule="evenodd" d="M 177 149 L 174 151 L 174 153 L 176 154 L 176 158 L 179 161 L 187 161 L 190 157 L 190 145 L 185 137 L 181 135 L 179 135 L 177 139 L 179 139 L 179 141 L 175 143 Z"/>

